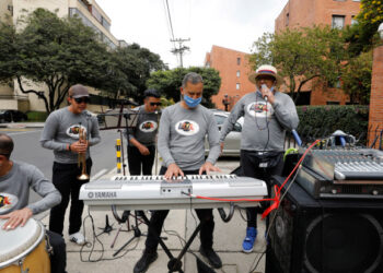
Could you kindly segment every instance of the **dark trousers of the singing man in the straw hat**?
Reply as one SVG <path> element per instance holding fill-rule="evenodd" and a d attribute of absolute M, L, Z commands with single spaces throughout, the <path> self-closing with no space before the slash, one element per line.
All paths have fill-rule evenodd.
<path fill-rule="evenodd" d="M 244 176 L 264 180 L 270 195 L 270 178 L 282 174 L 283 153 L 259 154 L 255 151 L 241 150 L 241 166 Z M 267 204 L 268 202 L 260 202 L 262 207 L 266 207 Z M 257 207 L 246 207 L 247 227 L 257 227 Z"/>

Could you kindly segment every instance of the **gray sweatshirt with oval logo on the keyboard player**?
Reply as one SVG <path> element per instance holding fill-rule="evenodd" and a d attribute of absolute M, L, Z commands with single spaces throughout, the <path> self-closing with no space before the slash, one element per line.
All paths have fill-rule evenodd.
<path fill-rule="evenodd" d="M 213 114 L 201 105 L 185 109 L 181 103 L 162 111 L 159 152 L 164 165 L 175 163 L 183 170 L 199 169 L 205 163 L 205 136 L 210 153 L 207 162 L 216 164 L 220 155 L 219 131 Z"/>

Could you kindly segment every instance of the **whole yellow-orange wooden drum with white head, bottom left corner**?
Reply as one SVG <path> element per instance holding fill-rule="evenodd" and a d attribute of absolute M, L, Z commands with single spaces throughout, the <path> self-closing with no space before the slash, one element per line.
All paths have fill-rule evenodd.
<path fill-rule="evenodd" d="M 42 223 L 30 218 L 25 226 L 4 230 L 0 219 L 0 273 L 50 273 L 50 261 Z"/>

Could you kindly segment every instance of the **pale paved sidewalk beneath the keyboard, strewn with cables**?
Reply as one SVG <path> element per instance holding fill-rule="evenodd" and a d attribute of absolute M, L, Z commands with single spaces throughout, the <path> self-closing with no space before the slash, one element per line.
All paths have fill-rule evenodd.
<path fill-rule="evenodd" d="M 237 161 L 224 161 L 218 162 L 217 166 L 219 166 L 223 174 L 229 174 L 231 170 L 239 166 Z M 68 212 L 69 210 L 67 210 Z M 119 212 L 120 214 L 121 212 Z M 220 256 L 223 266 L 220 270 L 216 270 L 216 272 L 224 272 L 224 273 L 245 273 L 249 272 L 254 264 L 258 261 L 262 252 L 265 249 L 265 238 L 262 236 L 265 234 L 265 223 L 263 221 L 258 221 L 258 237 L 257 242 L 255 245 L 255 250 L 253 253 L 243 253 L 242 252 L 242 240 L 245 235 L 246 223 L 243 217 L 245 212 L 241 213 L 240 211 L 235 211 L 233 218 L 229 223 L 223 223 L 221 217 L 218 214 L 218 211 L 214 210 L 214 250 Z M 88 207 L 85 207 L 83 213 L 83 218 L 88 215 Z M 68 273 L 114 273 L 114 272 L 132 272 L 134 266 L 138 259 L 141 257 L 142 250 L 144 249 L 144 240 L 146 237 L 141 236 L 139 238 L 135 238 L 131 244 L 129 244 L 124 250 L 116 256 L 115 259 L 113 254 L 117 249 L 124 246 L 130 238 L 134 237 L 134 232 L 121 232 L 118 235 L 116 240 L 116 245 L 114 248 L 111 248 L 111 245 L 116 236 L 118 229 L 118 224 L 112 215 L 112 212 L 91 212 L 91 215 L 94 219 L 94 227 L 92 226 L 92 221 L 90 217 L 85 218 L 85 234 L 90 241 L 93 241 L 93 232 L 94 228 L 95 234 L 101 234 L 103 227 L 105 226 L 105 215 L 108 215 L 109 224 L 115 228 L 109 235 L 103 234 L 97 237 L 95 241 L 93 252 L 90 257 L 93 246 L 84 247 L 81 253 L 81 247 L 72 244 L 68 239 L 68 217 L 66 218 L 66 227 L 65 227 L 65 239 L 67 241 L 67 271 Z M 149 212 L 147 213 L 149 217 Z M 48 224 L 48 216 L 44 217 L 44 224 Z M 165 245 L 169 247 L 173 256 L 177 256 L 182 250 L 182 239 L 179 239 L 176 235 L 179 235 L 183 239 L 188 239 L 197 226 L 198 217 L 195 212 L 190 210 L 173 210 L 170 212 L 165 224 L 162 236 L 167 237 L 164 240 Z M 135 224 L 134 218 L 130 217 L 130 225 Z M 127 227 L 124 225 L 124 229 Z M 139 229 L 142 234 L 147 233 L 147 226 L 143 224 L 139 225 Z M 207 263 L 207 260 L 202 258 L 199 252 L 199 236 L 196 237 L 194 242 L 192 244 L 189 251 L 182 259 L 183 270 L 186 273 L 197 273 L 197 264 L 196 258 L 194 254 L 198 256 L 202 261 Z M 189 252 L 194 252 L 189 253 Z M 81 261 L 80 254 L 82 254 L 82 259 L 84 261 L 104 259 L 97 262 L 84 262 Z M 114 259 L 114 260 L 112 260 Z M 159 259 L 151 264 L 148 273 L 163 273 L 169 272 L 167 270 L 167 256 L 159 247 Z M 252 272 L 265 272 L 265 256 L 263 256 L 258 268 Z"/>

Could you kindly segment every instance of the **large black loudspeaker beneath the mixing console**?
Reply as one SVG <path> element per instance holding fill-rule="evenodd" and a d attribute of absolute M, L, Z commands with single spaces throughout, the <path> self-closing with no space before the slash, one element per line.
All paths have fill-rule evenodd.
<path fill-rule="evenodd" d="M 383 272 L 383 200 L 314 200 L 292 183 L 269 221 L 267 273 Z"/>

